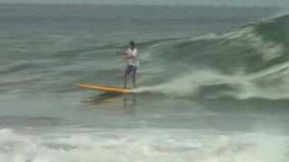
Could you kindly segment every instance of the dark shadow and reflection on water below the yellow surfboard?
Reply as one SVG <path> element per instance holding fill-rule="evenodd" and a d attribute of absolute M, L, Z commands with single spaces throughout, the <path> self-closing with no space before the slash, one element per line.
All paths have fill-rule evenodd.
<path fill-rule="evenodd" d="M 89 107 L 102 109 L 106 112 L 119 112 L 121 110 L 127 114 L 134 114 L 137 99 L 136 94 L 103 93 L 90 96 L 82 103 L 88 103 Z"/>

